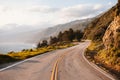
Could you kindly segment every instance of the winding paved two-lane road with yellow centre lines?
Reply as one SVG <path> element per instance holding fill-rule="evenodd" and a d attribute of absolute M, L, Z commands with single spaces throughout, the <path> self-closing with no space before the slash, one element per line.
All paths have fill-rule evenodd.
<path fill-rule="evenodd" d="M 115 80 L 84 57 L 89 41 L 0 70 L 0 80 Z"/>

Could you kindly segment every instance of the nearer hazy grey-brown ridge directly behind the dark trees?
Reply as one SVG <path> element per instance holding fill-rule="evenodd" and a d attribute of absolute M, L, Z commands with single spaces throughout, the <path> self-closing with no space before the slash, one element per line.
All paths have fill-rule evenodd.
<path fill-rule="evenodd" d="M 41 32 L 35 34 L 32 37 L 32 40 L 29 42 L 38 42 L 43 39 L 48 39 L 50 36 L 57 36 L 60 31 L 64 32 L 65 30 L 69 30 L 72 28 L 73 30 L 84 30 L 94 18 L 76 20 L 66 24 L 60 24 L 53 27 L 49 27 Z"/>

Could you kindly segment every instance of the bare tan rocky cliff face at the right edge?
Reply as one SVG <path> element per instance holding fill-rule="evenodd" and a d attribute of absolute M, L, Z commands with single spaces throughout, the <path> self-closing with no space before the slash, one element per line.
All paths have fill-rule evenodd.
<path fill-rule="evenodd" d="M 103 37 L 103 43 L 107 49 L 112 47 L 120 49 L 120 16 L 115 17 L 114 21 L 107 28 Z"/>

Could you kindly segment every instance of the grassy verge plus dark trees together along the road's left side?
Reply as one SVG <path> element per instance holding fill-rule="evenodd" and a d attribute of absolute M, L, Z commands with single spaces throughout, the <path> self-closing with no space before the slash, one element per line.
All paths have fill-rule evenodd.
<path fill-rule="evenodd" d="M 56 37 L 51 36 L 49 42 L 47 40 L 40 41 L 35 49 L 23 49 L 20 52 L 12 51 L 7 54 L 1 54 L 0 64 L 16 62 L 53 50 L 72 47 L 76 45 L 74 42 L 81 41 L 82 36 L 83 33 L 80 30 L 73 31 L 73 29 L 69 29 L 68 31 L 60 32 Z"/>

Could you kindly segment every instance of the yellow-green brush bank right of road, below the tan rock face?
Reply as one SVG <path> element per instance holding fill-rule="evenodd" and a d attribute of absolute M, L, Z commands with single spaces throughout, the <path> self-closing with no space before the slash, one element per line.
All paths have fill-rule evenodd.
<path fill-rule="evenodd" d="M 85 55 L 90 61 L 120 79 L 120 49 L 113 47 L 106 50 L 102 42 L 92 42 Z"/>

